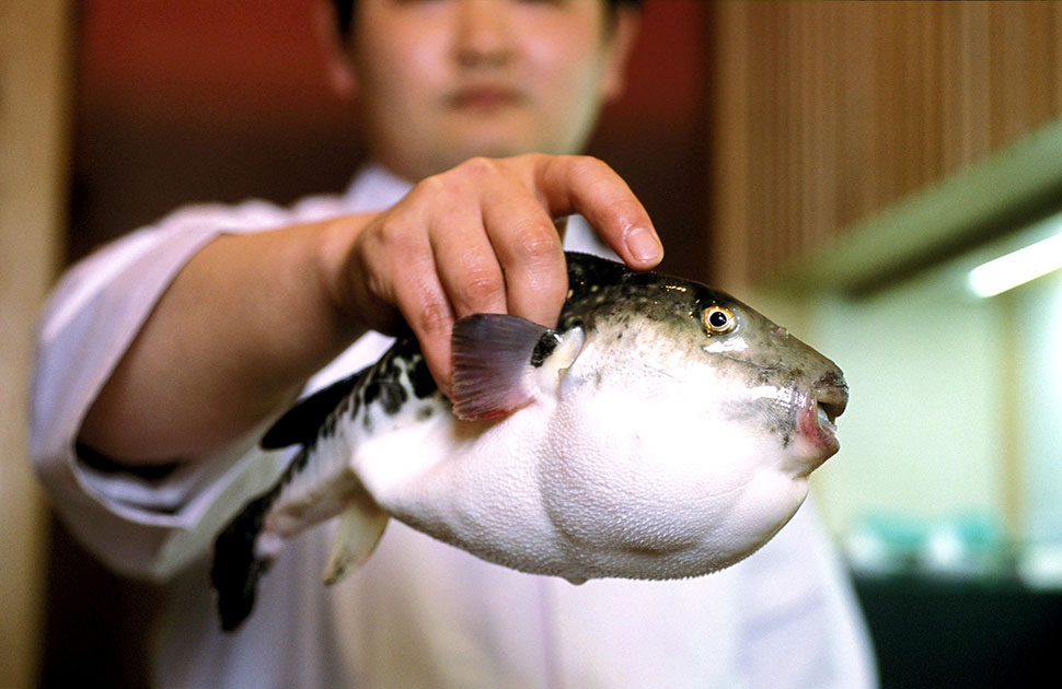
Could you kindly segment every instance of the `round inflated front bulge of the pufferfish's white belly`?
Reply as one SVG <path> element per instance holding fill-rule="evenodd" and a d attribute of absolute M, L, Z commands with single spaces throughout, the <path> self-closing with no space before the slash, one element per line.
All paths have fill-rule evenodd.
<path fill-rule="evenodd" d="M 776 436 L 726 417 L 725 396 L 690 405 L 637 387 L 566 400 L 550 432 L 543 499 L 588 575 L 705 574 L 796 512 L 806 480 L 783 470 Z"/>

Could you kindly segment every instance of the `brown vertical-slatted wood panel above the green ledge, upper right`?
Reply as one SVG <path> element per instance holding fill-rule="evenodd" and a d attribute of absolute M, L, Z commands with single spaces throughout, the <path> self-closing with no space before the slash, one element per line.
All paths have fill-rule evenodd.
<path fill-rule="evenodd" d="M 712 20 L 720 284 L 1062 115 L 1062 3 L 717 3 Z"/>

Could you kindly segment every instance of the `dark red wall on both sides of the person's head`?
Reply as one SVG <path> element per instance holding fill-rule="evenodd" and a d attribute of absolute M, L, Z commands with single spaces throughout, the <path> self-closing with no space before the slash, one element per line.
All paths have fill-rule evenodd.
<path fill-rule="evenodd" d="M 71 257 L 187 201 L 287 202 L 347 183 L 357 125 L 327 86 L 315 7 L 80 3 Z M 705 22 L 701 0 L 645 3 L 627 93 L 590 150 L 642 196 L 666 268 L 700 277 Z"/>

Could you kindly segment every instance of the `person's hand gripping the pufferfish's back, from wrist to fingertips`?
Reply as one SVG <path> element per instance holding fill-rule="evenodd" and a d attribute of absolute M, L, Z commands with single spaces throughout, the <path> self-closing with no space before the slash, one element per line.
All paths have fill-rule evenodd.
<path fill-rule="evenodd" d="M 457 318 L 508 313 L 556 325 L 567 271 L 554 219 L 572 213 L 632 268 L 662 258 L 645 208 L 601 161 L 472 159 L 420 182 L 348 237 L 332 293 L 367 328 L 394 332 L 404 319 L 449 393 Z"/>

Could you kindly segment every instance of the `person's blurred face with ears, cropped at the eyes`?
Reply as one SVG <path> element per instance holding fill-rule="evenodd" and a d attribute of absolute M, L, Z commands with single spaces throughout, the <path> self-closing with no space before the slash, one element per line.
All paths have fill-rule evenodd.
<path fill-rule="evenodd" d="M 577 153 L 620 93 L 637 23 L 603 0 L 357 0 L 370 153 L 409 179 L 475 155 Z"/>

